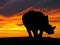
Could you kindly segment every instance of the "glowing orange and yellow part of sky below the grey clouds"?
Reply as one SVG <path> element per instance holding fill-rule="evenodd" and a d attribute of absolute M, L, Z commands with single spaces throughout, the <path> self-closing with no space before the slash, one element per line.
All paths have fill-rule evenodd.
<path fill-rule="evenodd" d="M 0 38 L 2 37 L 27 37 L 28 33 L 26 28 L 22 23 L 22 15 L 25 12 L 28 12 L 29 9 L 24 10 L 20 13 L 13 14 L 11 17 L 4 17 L 0 15 Z M 40 9 L 34 9 L 36 11 L 40 11 Z M 52 35 L 48 35 L 47 33 L 43 33 L 43 37 L 53 37 L 60 38 L 60 9 L 52 9 L 50 11 L 46 11 L 43 9 L 42 12 L 48 15 L 49 23 L 52 26 L 56 26 L 55 33 Z"/>

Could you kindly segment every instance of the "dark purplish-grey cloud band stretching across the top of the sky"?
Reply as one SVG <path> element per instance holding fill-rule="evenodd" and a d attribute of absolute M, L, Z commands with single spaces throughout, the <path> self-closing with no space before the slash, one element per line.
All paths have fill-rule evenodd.
<path fill-rule="evenodd" d="M 3 5 L 6 0 L 0 0 Z M 0 14 L 11 16 L 11 14 L 20 12 L 30 6 L 39 8 L 60 8 L 60 0 L 7 0 L 8 5 L 0 9 Z"/>

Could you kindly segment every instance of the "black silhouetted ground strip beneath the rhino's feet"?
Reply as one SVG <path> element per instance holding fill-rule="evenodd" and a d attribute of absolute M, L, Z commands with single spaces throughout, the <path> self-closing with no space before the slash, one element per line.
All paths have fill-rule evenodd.
<path fill-rule="evenodd" d="M 28 38 L 28 37 L 13 37 L 0 38 L 0 45 L 60 45 L 60 39 L 54 38 Z"/>

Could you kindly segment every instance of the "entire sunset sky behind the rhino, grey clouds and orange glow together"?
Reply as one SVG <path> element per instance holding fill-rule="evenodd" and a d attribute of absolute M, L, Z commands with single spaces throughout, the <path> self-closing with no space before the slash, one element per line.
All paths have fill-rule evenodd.
<path fill-rule="evenodd" d="M 60 0 L 0 0 L 0 38 L 27 37 L 22 16 L 30 10 L 48 15 L 49 23 L 56 26 L 54 34 L 43 37 L 60 38 Z"/>

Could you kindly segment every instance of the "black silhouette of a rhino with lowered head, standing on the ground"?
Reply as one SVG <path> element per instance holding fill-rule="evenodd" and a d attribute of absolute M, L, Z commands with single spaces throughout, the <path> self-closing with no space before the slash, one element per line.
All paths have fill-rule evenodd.
<path fill-rule="evenodd" d="M 22 21 L 29 33 L 29 37 L 32 37 L 30 32 L 31 30 L 34 34 L 34 37 L 42 37 L 44 31 L 48 34 L 53 34 L 56 27 L 52 27 L 49 24 L 48 16 L 45 16 L 42 12 L 36 12 L 34 10 L 24 14 Z M 38 30 L 40 30 L 39 35 L 37 33 Z"/>

